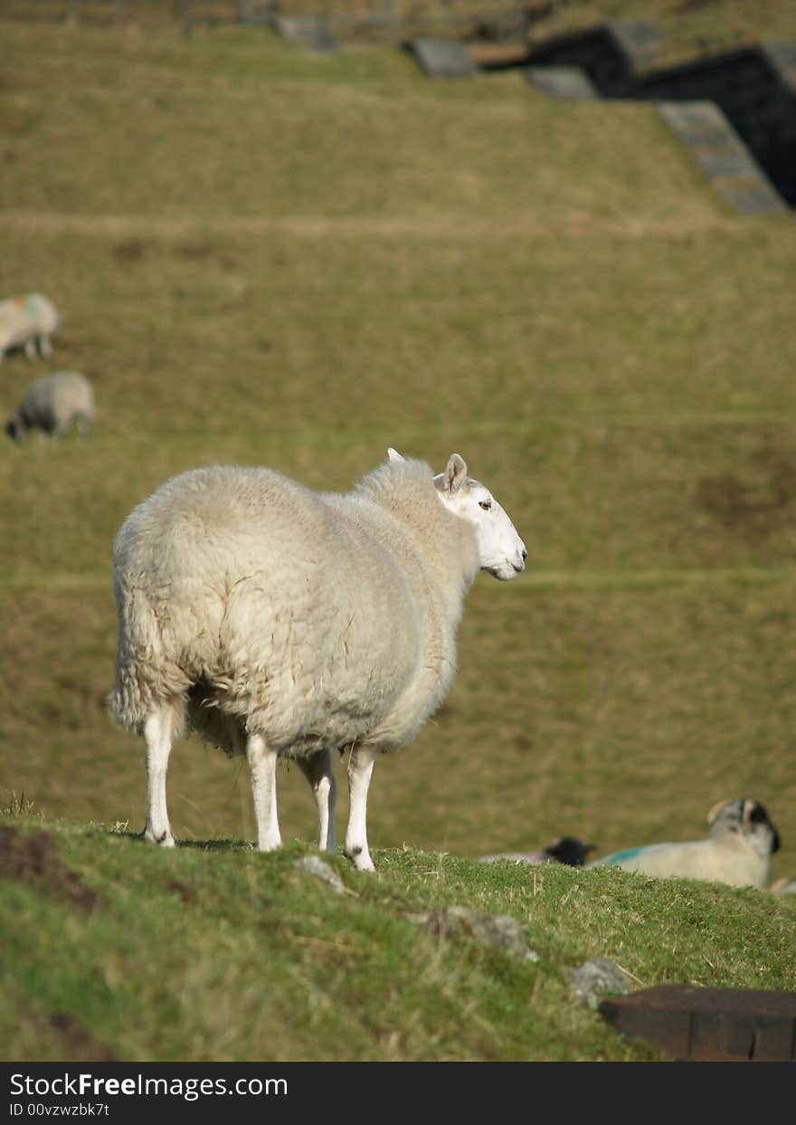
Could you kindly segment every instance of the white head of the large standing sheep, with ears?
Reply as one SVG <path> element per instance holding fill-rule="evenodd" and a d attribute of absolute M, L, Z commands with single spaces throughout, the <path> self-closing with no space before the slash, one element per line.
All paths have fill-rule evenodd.
<path fill-rule="evenodd" d="M 388 454 L 391 461 L 402 460 L 395 449 L 388 450 Z M 467 475 L 467 465 L 459 453 L 451 454 L 445 471 L 434 477 L 434 484 L 445 507 L 473 524 L 482 570 L 508 582 L 525 569 L 525 543 L 489 489 Z"/>

